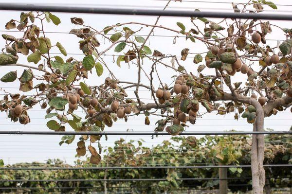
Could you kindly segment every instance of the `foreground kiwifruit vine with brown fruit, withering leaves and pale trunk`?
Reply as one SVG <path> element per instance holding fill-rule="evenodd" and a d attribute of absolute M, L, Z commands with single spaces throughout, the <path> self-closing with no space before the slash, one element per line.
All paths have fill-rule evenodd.
<path fill-rule="evenodd" d="M 249 9 L 261 12 L 265 4 L 276 9 L 274 3 L 264 0 L 233 4 L 233 8 L 238 13 L 248 12 Z M 130 21 L 97 30 L 85 25 L 82 18 L 71 18 L 73 24 L 81 26 L 70 31 L 70 34 L 81 38 L 79 48 L 85 56 L 80 61 L 50 53 L 52 48 L 57 47 L 67 56 L 62 44 L 51 42 L 44 29 L 45 21 L 58 25 L 61 22 L 58 17 L 50 12 L 21 13 L 19 21 L 11 19 L 5 28 L 17 28 L 23 32 L 23 36 L 17 38 L 2 35 L 6 45 L 0 54 L 0 65 L 24 67 L 25 70 L 20 77 L 17 71 L 7 72 L 1 81 L 13 82 L 18 78 L 19 90 L 28 92 L 35 88 L 36 92 L 31 97 L 8 93 L 0 101 L 0 110 L 8 111 L 13 122 L 28 124 L 29 110 L 38 103 L 45 109 L 48 103 L 45 118 L 55 118 L 47 123 L 47 126 L 55 131 L 65 131 L 68 124 L 75 131 L 103 131 L 105 126 L 112 126 L 117 118 L 125 118 L 127 121 L 130 116 L 144 113 L 145 124 L 150 123 L 149 115 L 163 117 L 156 123 L 156 132 L 164 131 L 167 125 L 165 130 L 168 133 L 179 135 L 184 127 L 188 126 L 187 122 L 195 124 L 197 117 L 205 114 L 203 112 L 212 111 L 224 115 L 237 110 L 235 119 L 241 114 L 248 123 L 253 123 L 253 131 L 263 131 L 265 117 L 275 115 L 277 111 L 292 105 L 292 30 L 281 28 L 287 40 L 277 47 L 267 45 L 265 39 L 265 36 L 272 32 L 272 27 L 280 28 L 269 21 L 225 18 L 216 23 L 206 18 L 191 18 L 193 28 L 186 29 L 183 23 L 177 22 L 178 28 L 171 29 L 157 25 L 159 19 L 160 17 L 154 25 Z M 226 30 L 222 26 L 224 23 L 228 25 Z M 137 30 L 127 27 L 130 24 Z M 137 26 L 151 28 L 146 38 L 136 36 L 141 30 Z M 181 61 L 186 60 L 188 53 L 195 49 L 183 49 L 180 61 L 176 55 L 165 55 L 158 50 L 152 52 L 146 46 L 150 35 L 158 28 L 175 35 L 185 35 L 186 41 L 191 41 L 194 45 L 199 41 L 206 46 L 205 51 L 196 54 L 193 60 L 195 64 L 201 63 L 197 68 L 198 73 L 188 72 L 181 64 Z M 260 30 L 256 30 L 259 28 Z M 101 38 L 110 42 L 105 43 L 103 49 L 99 47 Z M 125 52 L 118 56 L 118 66 L 123 63 L 137 66 L 137 81 L 122 81 L 110 70 L 102 56 L 112 50 L 116 53 Z M 27 56 L 29 63 L 33 62 L 38 66 L 19 64 L 20 54 Z M 168 64 L 170 58 L 171 63 Z M 45 63 L 41 63 L 42 59 Z M 165 59 L 168 60 L 165 62 Z M 150 72 L 143 67 L 144 60 L 151 62 Z M 174 76 L 174 84 L 163 84 L 157 66 L 172 69 L 177 74 Z M 107 77 L 104 83 L 88 86 L 84 80 L 88 79 L 94 69 L 97 76 L 101 76 L 106 69 L 110 77 Z M 203 73 L 207 69 L 213 73 Z M 233 78 L 241 74 L 247 74 L 245 83 L 234 82 Z M 142 77 L 148 80 L 148 84 L 141 82 Z M 155 85 L 154 78 L 158 78 L 159 85 Z M 135 100 L 127 98 L 127 88 L 135 89 Z M 143 102 L 140 88 L 151 91 L 153 103 Z M 204 108 L 200 108 L 199 104 Z M 84 119 L 73 113 L 77 108 L 84 110 Z M 161 111 L 160 114 L 156 113 L 158 110 Z M 77 155 L 86 154 L 84 140 L 95 142 L 100 138 L 101 136 L 82 136 L 81 141 L 77 143 Z M 74 136 L 63 136 L 60 144 L 71 143 L 73 140 Z M 253 191 L 254 194 L 262 194 L 265 185 L 263 135 L 253 135 L 252 141 Z M 98 164 L 100 155 L 93 146 L 89 145 L 88 149 L 91 153 L 91 163 Z M 99 149 L 101 151 L 100 144 Z"/>

